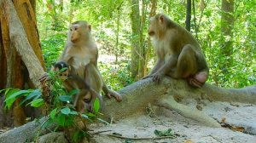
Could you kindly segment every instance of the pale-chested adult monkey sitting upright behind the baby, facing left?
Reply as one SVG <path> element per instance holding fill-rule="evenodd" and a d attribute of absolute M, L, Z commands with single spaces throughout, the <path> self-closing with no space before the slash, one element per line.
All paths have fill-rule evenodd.
<path fill-rule="evenodd" d="M 98 49 L 90 31 L 91 26 L 86 21 L 74 22 L 70 26 L 60 60 L 67 62 L 71 66 L 71 73 L 79 75 L 97 93 L 102 89 L 109 98 L 113 96 L 117 101 L 121 101 L 122 98 L 117 92 L 108 89 L 98 70 Z"/>

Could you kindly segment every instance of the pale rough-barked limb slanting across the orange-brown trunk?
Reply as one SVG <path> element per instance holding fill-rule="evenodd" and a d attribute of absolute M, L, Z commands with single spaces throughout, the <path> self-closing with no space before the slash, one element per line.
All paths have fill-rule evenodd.
<path fill-rule="evenodd" d="M 19 20 L 14 4 L 10 0 L 5 1 L 3 10 L 7 15 L 10 42 L 20 54 L 26 68 L 29 69 L 29 77 L 32 79 L 32 83 L 39 87 L 38 79 L 44 74 L 44 68 L 26 38 L 26 31 Z"/>

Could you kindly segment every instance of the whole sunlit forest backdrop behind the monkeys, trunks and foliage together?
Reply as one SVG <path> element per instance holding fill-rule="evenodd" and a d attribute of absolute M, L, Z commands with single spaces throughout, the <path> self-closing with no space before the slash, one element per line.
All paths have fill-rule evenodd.
<path fill-rule="evenodd" d="M 186 26 L 186 1 L 38 0 L 37 22 L 49 70 L 58 60 L 70 23 L 87 20 L 98 43 L 99 68 L 111 89 L 122 89 L 150 72 L 154 49 L 148 18 L 164 13 Z M 206 55 L 207 83 L 224 88 L 256 84 L 256 2 L 192 1 L 190 31 Z"/>

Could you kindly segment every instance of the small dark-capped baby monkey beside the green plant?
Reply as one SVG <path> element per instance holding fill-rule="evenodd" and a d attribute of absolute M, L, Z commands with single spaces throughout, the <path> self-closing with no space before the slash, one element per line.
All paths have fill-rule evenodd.
<path fill-rule="evenodd" d="M 53 71 L 59 72 L 58 77 L 63 81 L 63 86 L 67 92 L 73 89 L 78 89 L 79 93 L 73 95 L 73 106 L 78 112 L 94 112 L 93 105 L 96 98 L 100 100 L 102 106 L 102 96 L 94 89 L 91 89 L 89 84 L 82 78 L 70 73 L 71 67 L 64 61 L 55 63 Z"/>

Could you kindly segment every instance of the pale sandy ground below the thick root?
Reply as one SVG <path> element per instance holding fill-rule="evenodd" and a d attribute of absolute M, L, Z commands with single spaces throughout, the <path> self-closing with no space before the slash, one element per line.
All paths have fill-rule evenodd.
<path fill-rule="evenodd" d="M 186 100 L 185 104 L 191 108 L 199 105 L 195 100 Z M 241 103 L 227 102 L 201 102 L 202 112 L 225 123 L 236 124 L 239 126 L 253 126 L 256 128 L 256 106 Z M 94 132 L 106 131 L 95 135 L 94 139 L 102 143 L 123 143 L 123 142 L 185 142 L 185 143 L 256 143 L 256 135 L 234 131 L 228 128 L 211 128 L 197 121 L 183 117 L 175 111 L 160 108 L 150 117 L 146 112 L 138 113 L 132 117 L 119 120 L 111 125 L 92 125 L 90 129 Z M 247 127 L 244 127 L 247 128 Z M 177 137 L 174 139 L 147 139 L 147 140 L 125 140 L 103 134 L 122 134 L 123 137 L 131 138 L 154 138 L 154 130 L 172 129 Z"/>

